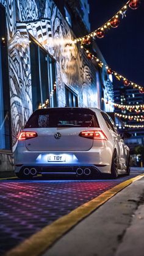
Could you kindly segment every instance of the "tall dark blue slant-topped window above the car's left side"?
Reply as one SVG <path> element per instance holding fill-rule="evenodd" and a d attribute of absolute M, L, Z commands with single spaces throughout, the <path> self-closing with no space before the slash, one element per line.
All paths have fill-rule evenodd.
<path fill-rule="evenodd" d="M 57 106 L 56 68 L 54 60 L 31 38 L 32 107 Z"/>

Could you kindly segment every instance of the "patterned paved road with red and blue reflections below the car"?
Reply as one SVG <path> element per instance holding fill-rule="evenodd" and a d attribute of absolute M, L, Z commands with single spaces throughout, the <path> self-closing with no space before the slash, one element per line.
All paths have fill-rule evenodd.
<path fill-rule="evenodd" d="M 77 207 L 98 197 L 129 178 L 142 174 L 132 170 L 130 176 L 117 180 L 51 180 L 7 178 L 0 180 L 0 255 L 18 246 Z"/>

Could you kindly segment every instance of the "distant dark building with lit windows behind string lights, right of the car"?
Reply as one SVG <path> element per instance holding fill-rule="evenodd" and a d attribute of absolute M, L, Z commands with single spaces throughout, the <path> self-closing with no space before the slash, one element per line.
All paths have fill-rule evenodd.
<path fill-rule="evenodd" d="M 114 101 L 117 104 L 123 104 L 123 105 L 129 105 L 129 106 L 139 106 L 143 105 L 144 102 L 144 95 L 143 93 L 140 93 L 137 89 L 132 89 L 131 87 L 125 88 L 124 86 L 121 86 L 119 89 L 114 90 Z M 131 161 L 133 166 L 142 166 L 142 156 L 140 153 L 137 153 L 137 150 L 135 148 L 139 146 L 144 147 L 144 130 L 142 128 L 137 128 L 136 125 L 143 125 L 144 122 L 138 122 L 138 120 L 135 118 L 131 118 L 133 115 L 143 116 L 143 110 L 141 108 L 135 108 L 131 111 L 128 111 L 126 109 L 120 109 L 115 108 L 115 112 L 123 115 L 129 115 L 129 119 L 122 119 L 122 123 L 119 123 L 117 126 L 121 133 L 123 131 L 128 131 L 131 133 L 131 137 L 126 139 L 126 144 L 130 148 L 131 153 Z M 139 119 L 142 119 L 141 117 Z M 128 125 L 128 127 L 124 127 L 124 125 Z M 135 128 L 129 127 L 130 125 L 135 126 Z"/>

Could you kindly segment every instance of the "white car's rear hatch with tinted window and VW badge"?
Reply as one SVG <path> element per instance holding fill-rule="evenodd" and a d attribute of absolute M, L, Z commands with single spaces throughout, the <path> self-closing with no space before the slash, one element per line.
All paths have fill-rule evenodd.
<path fill-rule="evenodd" d="M 93 139 L 80 137 L 84 130 L 99 130 L 95 112 L 84 108 L 38 109 L 24 131 L 35 131 L 37 137 L 25 141 L 32 152 L 87 151 Z"/>

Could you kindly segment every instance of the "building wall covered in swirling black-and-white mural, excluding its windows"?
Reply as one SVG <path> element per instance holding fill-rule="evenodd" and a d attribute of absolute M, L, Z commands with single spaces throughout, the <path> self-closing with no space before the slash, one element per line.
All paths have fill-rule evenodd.
<path fill-rule="evenodd" d="M 79 106 L 97 107 L 96 69 L 51 0 L 0 0 L 7 13 L 12 152 L 18 133 L 32 114 L 30 40 L 32 35 L 56 60 L 58 106 L 65 106 L 65 85 L 77 93 Z M 0 154 L 13 168 L 13 155 Z M 6 159 L 7 158 L 7 159 Z"/>

